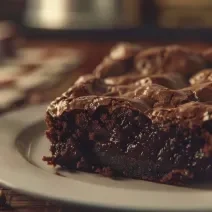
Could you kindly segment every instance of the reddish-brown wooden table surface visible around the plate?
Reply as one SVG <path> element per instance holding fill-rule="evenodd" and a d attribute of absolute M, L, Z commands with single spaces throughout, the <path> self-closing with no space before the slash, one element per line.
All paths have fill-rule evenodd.
<path fill-rule="evenodd" d="M 107 54 L 111 46 L 115 42 L 89 42 L 89 41 L 47 41 L 47 40 L 30 40 L 27 41 L 27 46 L 60 46 L 60 47 L 73 47 L 79 50 L 82 50 L 85 53 L 84 63 L 76 70 L 78 74 L 90 73 L 95 66 L 102 60 L 102 58 Z M 153 45 L 162 45 L 166 43 L 157 43 L 157 42 L 139 42 L 143 46 L 153 46 Z M 212 46 L 210 43 L 199 43 L 199 42 L 179 42 L 179 44 L 186 45 L 197 51 L 201 51 Z M 74 206 L 69 206 L 68 208 L 60 204 L 49 202 L 45 200 L 35 199 L 33 197 L 28 197 L 20 193 L 16 193 L 10 189 L 3 189 L 7 197 L 8 205 L 6 207 L 1 207 L 0 211 L 18 211 L 18 212 L 61 212 L 61 211 L 93 211 L 93 209 L 78 209 Z"/>

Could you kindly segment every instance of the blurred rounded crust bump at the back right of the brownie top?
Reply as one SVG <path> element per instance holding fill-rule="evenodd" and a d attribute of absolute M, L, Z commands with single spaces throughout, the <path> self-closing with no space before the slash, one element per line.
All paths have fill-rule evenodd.
<path fill-rule="evenodd" d="M 201 54 L 178 45 L 150 48 L 135 57 L 135 68 L 143 76 L 174 72 L 189 77 L 205 67 Z"/>

